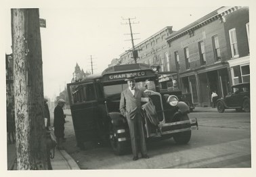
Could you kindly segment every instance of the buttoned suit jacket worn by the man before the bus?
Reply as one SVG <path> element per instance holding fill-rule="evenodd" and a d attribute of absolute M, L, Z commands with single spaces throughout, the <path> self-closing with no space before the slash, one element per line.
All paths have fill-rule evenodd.
<path fill-rule="evenodd" d="M 148 96 L 138 88 L 135 88 L 135 93 L 133 95 L 129 90 L 129 87 L 126 88 L 121 93 L 121 100 L 119 105 L 120 112 L 123 114 L 123 116 L 133 119 L 137 113 L 141 113 L 142 103 L 140 99 L 142 97 Z"/>

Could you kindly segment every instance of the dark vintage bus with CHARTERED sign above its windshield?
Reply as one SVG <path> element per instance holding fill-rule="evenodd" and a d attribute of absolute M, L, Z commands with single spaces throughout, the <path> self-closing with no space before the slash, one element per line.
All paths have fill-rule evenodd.
<path fill-rule="evenodd" d="M 144 117 L 146 138 L 173 137 L 178 144 L 190 141 L 191 130 L 198 129 L 196 118 L 188 118 L 190 108 L 173 94 L 160 93 L 158 73 L 146 64 L 127 64 L 106 68 L 100 75 L 87 76 L 81 82 L 67 84 L 77 145 L 86 141 L 110 143 L 121 155 L 131 149 L 127 120 L 119 111 L 125 78 L 133 74 L 136 87 L 150 97 L 156 107 L 158 126 Z M 169 92 L 170 93 L 170 92 Z"/>

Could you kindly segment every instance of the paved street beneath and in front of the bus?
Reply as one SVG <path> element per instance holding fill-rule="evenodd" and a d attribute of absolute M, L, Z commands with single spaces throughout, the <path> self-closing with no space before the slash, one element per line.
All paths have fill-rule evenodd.
<path fill-rule="evenodd" d="M 188 145 L 175 145 L 173 139 L 148 142 L 150 159 L 132 161 L 132 155 L 116 156 L 110 147 L 86 143 L 76 147 L 72 118 L 65 124 L 66 151 L 81 169 L 169 169 L 169 168 L 250 168 L 250 113 L 212 108 L 196 108 L 190 118 L 198 118 L 199 130 L 192 131 Z M 110 163 L 111 162 L 111 163 Z"/>

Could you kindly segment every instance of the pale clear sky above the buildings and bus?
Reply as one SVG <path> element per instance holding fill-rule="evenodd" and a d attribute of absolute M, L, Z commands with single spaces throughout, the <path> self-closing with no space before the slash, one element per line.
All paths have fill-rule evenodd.
<path fill-rule="evenodd" d="M 112 2 L 112 1 L 109 1 Z M 145 1 L 144 1 L 145 2 Z M 215 6 L 173 6 L 169 1 L 161 3 L 139 3 L 119 5 L 107 3 L 100 5 L 45 5 L 39 8 L 40 18 L 46 20 L 46 28 L 41 28 L 43 85 L 45 96 L 53 99 L 71 82 L 74 67 L 79 64 L 84 71 L 100 73 L 114 58 L 131 48 L 128 20 L 131 22 L 135 45 L 152 34 L 173 26 L 179 30 L 198 20 Z M 163 3 L 165 2 L 165 3 Z M 12 53 L 10 9 L 5 9 L 5 53 Z"/>

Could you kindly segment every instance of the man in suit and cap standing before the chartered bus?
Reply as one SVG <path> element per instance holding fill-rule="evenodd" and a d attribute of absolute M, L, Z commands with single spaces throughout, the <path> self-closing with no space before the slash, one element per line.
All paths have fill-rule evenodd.
<path fill-rule="evenodd" d="M 142 158 L 148 159 L 149 157 L 146 149 L 144 126 L 142 123 L 141 103 L 141 98 L 147 96 L 144 95 L 144 92 L 140 91 L 140 89 L 135 88 L 134 76 L 128 76 L 125 81 L 127 81 L 128 88 L 121 93 L 119 109 L 128 122 L 133 160 L 138 159 L 138 143 L 140 143 L 140 152 L 142 153 Z M 136 137 L 139 137 L 139 140 L 137 140 Z"/>

